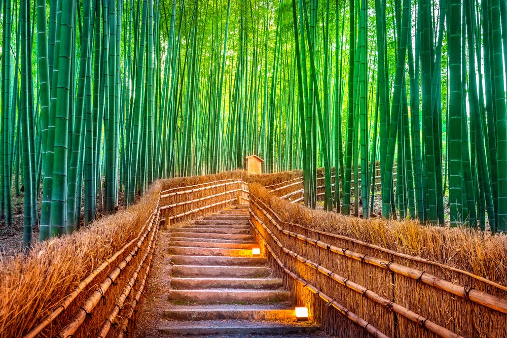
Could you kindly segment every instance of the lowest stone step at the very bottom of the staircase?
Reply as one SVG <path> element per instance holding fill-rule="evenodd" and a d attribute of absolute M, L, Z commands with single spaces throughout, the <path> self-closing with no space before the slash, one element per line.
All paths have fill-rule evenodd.
<path fill-rule="evenodd" d="M 245 337 L 250 334 L 259 335 L 283 335 L 295 334 L 298 337 L 306 337 L 318 331 L 320 328 L 310 322 L 297 323 L 294 320 L 286 321 L 248 321 L 248 320 L 204 320 L 204 321 L 174 321 L 167 322 L 159 327 L 158 331 L 163 334 L 179 336 L 187 335 L 232 335 Z"/>

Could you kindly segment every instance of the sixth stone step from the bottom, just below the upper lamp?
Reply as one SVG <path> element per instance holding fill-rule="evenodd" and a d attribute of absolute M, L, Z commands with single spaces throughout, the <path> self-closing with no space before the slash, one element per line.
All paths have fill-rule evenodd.
<path fill-rule="evenodd" d="M 197 248 L 210 249 L 210 248 Z M 224 250 L 224 249 L 219 249 Z M 226 249 L 235 250 L 235 249 Z M 251 250 L 250 256 L 251 256 Z M 203 252 L 206 254 L 207 252 Z M 230 257 L 230 256 L 185 256 L 174 255 L 171 257 L 175 265 L 228 265 L 228 266 L 260 266 L 266 264 L 266 258 L 263 257 Z"/>

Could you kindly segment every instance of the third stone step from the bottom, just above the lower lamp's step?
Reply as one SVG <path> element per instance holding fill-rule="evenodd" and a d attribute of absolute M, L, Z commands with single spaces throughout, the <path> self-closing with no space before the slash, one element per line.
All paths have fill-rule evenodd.
<path fill-rule="evenodd" d="M 169 300 L 199 303 L 267 303 L 279 302 L 289 298 L 286 290 L 169 290 Z"/>

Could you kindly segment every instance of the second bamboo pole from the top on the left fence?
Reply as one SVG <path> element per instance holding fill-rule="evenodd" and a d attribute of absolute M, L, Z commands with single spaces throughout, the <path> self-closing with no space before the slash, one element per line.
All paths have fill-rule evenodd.
<path fill-rule="evenodd" d="M 149 248 L 151 243 L 153 242 L 153 238 L 155 235 L 153 227 L 153 221 L 150 222 L 150 225 L 146 232 L 142 235 L 141 239 L 135 245 L 135 248 L 130 251 L 130 253 L 122 259 L 120 263 L 115 267 L 115 269 L 107 275 L 104 281 L 98 285 L 97 289 L 84 301 L 83 305 L 79 307 L 74 316 L 70 319 L 70 321 L 65 325 L 65 327 L 60 331 L 59 336 L 62 338 L 69 337 L 73 335 L 76 330 L 83 324 L 86 319 L 87 314 L 91 313 L 91 311 L 97 306 L 100 299 L 105 295 L 107 290 L 113 285 L 116 279 L 120 276 L 120 273 L 123 269 L 128 265 L 128 263 L 132 260 L 132 257 L 137 254 L 142 243 L 147 238 L 148 234 L 151 232 L 150 242 L 148 243 Z"/>

